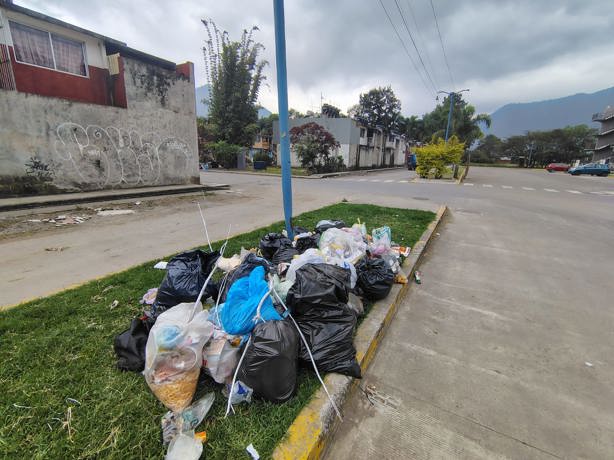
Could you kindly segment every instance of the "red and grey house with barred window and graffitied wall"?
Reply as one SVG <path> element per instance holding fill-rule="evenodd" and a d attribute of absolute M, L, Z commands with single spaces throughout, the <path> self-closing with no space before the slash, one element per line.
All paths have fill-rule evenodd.
<path fill-rule="evenodd" d="M 198 183 L 194 66 L 0 0 L 0 195 Z"/>

